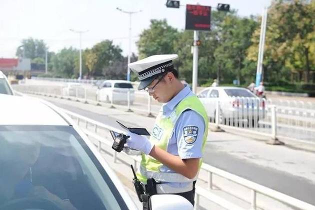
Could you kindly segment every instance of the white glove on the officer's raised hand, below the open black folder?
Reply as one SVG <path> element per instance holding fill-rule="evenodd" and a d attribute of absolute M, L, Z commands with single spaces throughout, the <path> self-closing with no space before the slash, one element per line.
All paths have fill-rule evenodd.
<path fill-rule="evenodd" d="M 130 136 L 129 138 L 127 138 L 128 147 L 140 150 L 145 154 L 150 153 L 154 144 L 151 144 L 146 136 L 138 135 L 130 131 L 127 132 L 127 135 Z"/>

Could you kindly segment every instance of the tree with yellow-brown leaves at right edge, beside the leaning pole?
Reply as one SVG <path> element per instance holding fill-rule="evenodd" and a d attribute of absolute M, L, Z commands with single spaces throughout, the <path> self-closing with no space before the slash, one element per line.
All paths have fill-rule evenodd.
<path fill-rule="evenodd" d="M 315 0 L 273 0 L 268 9 L 263 69 L 275 80 L 288 80 L 289 71 L 298 72 L 299 80 L 306 71 L 315 70 Z M 256 61 L 259 30 L 253 33 L 253 45 L 247 58 Z M 271 76 L 269 77 L 271 78 Z M 274 78 L 274 76 L 272 76 Z"/>

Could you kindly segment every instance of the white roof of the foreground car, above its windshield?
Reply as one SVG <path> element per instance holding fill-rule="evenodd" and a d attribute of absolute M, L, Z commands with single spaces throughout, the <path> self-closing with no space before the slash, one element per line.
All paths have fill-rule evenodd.
<path fill-rule="evenodd" d="M 39 99 L 0 94 L 0 101 L 0 125 L 69 125 Z"/>

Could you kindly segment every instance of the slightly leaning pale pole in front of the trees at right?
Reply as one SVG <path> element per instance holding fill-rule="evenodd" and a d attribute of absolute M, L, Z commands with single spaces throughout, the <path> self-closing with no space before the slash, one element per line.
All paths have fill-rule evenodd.
<path fill-rule="evenodd" d="M 256 83 L 255 83 L 256 86 L 258 86 L 260 81 L 261 81 L 262 61 L 263 61 L 263 46 L 264 46 L 264 37 L 265 37 L 265 33 L 266 33 L 266 24 L 267 24 L 267 8 L 265 7 L 262 11 L 262 16 L 261 16 L 259 48 L 258 48 L 258 58 L 257 58 L 257 70 L 256 70 Z"/>

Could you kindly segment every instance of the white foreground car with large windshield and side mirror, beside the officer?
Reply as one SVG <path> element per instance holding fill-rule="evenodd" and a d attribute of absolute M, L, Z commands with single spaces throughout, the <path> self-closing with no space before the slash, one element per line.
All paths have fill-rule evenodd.
<path fill-rule="evenodd" d="M 0 94 L 0 101 L 1 210 L 137 209 L 92 142 L 58 107 L 27 96 Z M 193 209 L 179 195 L 153 195 L 151 206 Z"/>

